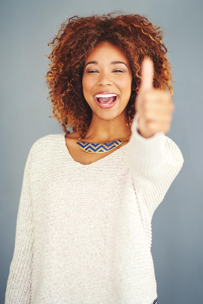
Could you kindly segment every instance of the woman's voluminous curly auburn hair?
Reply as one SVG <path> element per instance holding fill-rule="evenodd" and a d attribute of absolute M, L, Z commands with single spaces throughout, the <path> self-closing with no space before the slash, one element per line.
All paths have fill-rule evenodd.
<path fill-rule="evenodd" d="M 107 41 L 124 51 L 133 76 L 132 94 L 126 115 L 130 126 L 135 115 L 135 98 L 139 89 L 141 63 L 151 58 L 154 64 L 155 88 L 169 88 L 172 94 L 171 69 L 167 49 L 162 43 L 163 33 L 146 17 L 139 15 L 108 14 L 91 17 L 71 17 L 61 25 L 53 40 L 49 71 L 46 75 L 53 117 L 62 124 L 85 137 L 92 112 L 85 101 L 82 77 L 85 59 L 101 41 Z"/>

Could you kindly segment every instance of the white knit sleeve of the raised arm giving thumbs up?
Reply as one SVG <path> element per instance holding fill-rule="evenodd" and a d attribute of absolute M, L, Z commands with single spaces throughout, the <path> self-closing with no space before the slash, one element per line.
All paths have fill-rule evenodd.
<path fill-rule="evenodd" d="M 182 153 L 163 133 L 150 138 L 139 135 L 135 117 L 127 155 L 137 198 L 147 205 L 152 217 L 183 165 Z"/>

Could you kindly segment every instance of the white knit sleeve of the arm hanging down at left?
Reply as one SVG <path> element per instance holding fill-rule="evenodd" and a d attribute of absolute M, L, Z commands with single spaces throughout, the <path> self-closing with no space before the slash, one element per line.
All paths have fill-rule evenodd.
<path fill-rule="evenodd" d="M 31 294 L 33 260 L 33 211 L 30 189 L 32 156 L 25 166 L 20 203 L 17 214 L 16 241 L 7 282 L 5 304 L 28 304 Z"/>

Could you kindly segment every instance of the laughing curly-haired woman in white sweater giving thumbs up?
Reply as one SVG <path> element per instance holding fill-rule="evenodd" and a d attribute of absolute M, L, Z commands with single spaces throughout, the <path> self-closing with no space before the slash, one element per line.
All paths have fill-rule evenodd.
<path fill-rule="evenodd" d="M 139 15 L 73 17 L 51 44 L 47 80 L 66 135 L 29 154 L 6 303 L 157 303 L 151 220 L 183 163 L 164 135 L 162 33 Z"/>

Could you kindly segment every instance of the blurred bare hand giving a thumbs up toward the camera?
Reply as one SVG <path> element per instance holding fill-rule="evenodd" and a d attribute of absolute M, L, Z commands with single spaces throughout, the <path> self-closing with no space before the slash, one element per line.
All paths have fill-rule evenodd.
<path fill-rule="evenodd" d="M 136 99 L 138 132 L 151 137 L 157 132 L 169 132 L 174 105 L 169 92 L 153 87 L 153 63 L 145 59 L 142 63 L 141 85 Z"/>

